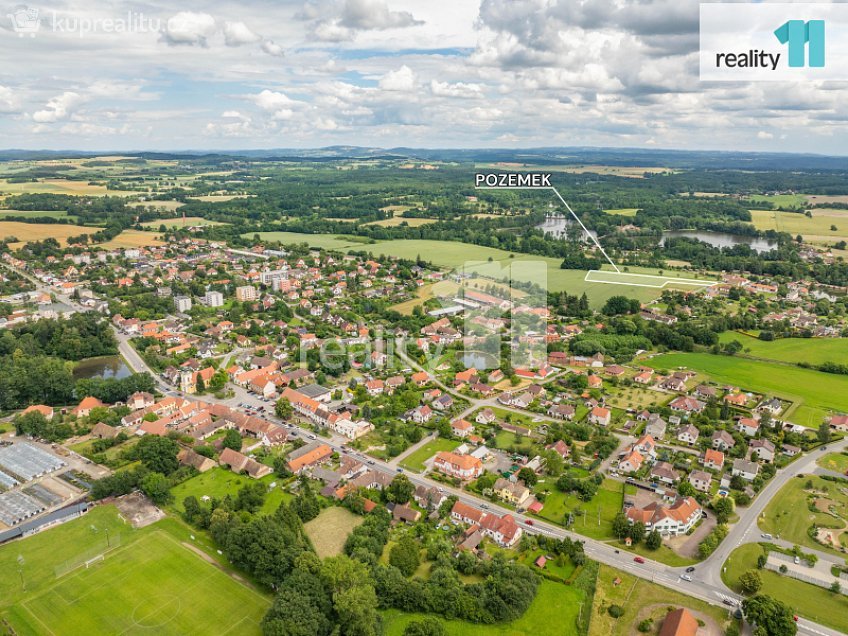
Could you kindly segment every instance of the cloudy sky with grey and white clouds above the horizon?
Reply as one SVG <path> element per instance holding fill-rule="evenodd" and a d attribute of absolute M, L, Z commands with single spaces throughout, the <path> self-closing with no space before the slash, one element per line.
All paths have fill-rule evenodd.
<path fill-rule="evenodd" d="M 7 3 L 0 147 L 848 154 L 848 83 L 701 82 L 698 37 L 691 0 Z"/>

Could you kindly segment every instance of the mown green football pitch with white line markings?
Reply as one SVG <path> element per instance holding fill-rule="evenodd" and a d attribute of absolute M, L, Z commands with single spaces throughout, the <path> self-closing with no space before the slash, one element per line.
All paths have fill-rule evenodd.
<path fill-rule="evenodd" d="M 259 634 L 267 599 L 156 530 L 11 608 L 24 634 Z"/>

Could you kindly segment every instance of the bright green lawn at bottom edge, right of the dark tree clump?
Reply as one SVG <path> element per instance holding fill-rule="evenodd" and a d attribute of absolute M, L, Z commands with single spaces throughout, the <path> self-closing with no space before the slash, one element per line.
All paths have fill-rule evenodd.
<path fill-rule="evenodd" d="M 456 620 L 439 621 L 449 636 L 561 636 L 576 633 L 577 618 L 585 600 L 582 590 L 543 580 L 527 612 L 511 623 L 478 625 Z M 428 614 L 387 610 L 383 612 L 383 634 L 401 636 L 409 623 L 426 616 Z"/>

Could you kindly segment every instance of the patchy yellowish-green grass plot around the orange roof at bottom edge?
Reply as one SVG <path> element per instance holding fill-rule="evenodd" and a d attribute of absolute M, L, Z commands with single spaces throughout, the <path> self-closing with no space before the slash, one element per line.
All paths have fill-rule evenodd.
<path fill-rule="evenodd" d="M 620 579 L 619 585 L 613 581 Z M 610 605 L 624 608 L 624 615 L 613 618 L 607 609 Z M 686 596 L 666 587 L 650 583 L 608 565 L 601 565 L 598 585 L 595 588 L 595 600 L 592 605 L 592 620 L 589 623 L 589 636 L 630 636 L 637 634 L 636 617 L 644 617 L 644 610 L 655 607 L 665 614 L 669 606 L 687 607 L 713 618 L 723 626 L 728 621 L 728 612 L 721 607 L 710 605 L 691 596 Z M 655 614 L 651 613 L 651 617 Z"/>

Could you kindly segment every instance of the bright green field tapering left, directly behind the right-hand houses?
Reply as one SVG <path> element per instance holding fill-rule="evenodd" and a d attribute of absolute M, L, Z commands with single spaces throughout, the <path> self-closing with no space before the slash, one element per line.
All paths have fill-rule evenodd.
<path fill-rule="evenodd" d="M 669 353 L 647 360 L 655 369 L 686 367 L 713 380 L 780 397 L 793 403 L 783 415 L 817 428 L 830 411 L 848 411 L 848 377 L 775 362 L 709 353 Z"/>

